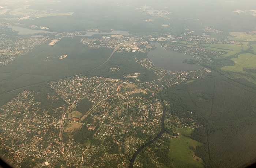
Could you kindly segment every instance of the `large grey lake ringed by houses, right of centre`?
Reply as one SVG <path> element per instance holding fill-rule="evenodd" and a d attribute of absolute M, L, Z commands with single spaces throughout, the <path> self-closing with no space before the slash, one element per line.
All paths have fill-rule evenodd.
<path fill-rule="evenodd" d="M 148 58 L 155 66 L 170 71 L 186 71 L 202 69 L 203 66 L 183 62 L 185 59 L 196 59 L 189 54 L 183 54 L 171 50 L 165 50 L 159 43 L 153 43 L 157 49 L 148 52 Z"/>

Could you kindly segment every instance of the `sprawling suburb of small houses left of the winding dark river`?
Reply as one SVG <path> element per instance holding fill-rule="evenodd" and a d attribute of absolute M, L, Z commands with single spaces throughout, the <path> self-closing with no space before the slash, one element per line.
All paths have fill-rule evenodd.
<path fill-rule="evenodd" d="M 147 68 L 154 66 L 148 59 L 141 63 Z M 48 101 L 54 104 L 48 109 L 36 100 L 39 93 L 25 90 L 1 107 L 1 149 L 13 159 L 14 165 L 21 167 L 26 163 L 31 167 L 56 167 L 63 163 L 67 167 L 98 167 L 109 163 L 127 167 L 132 153 L 161 129 L 163 110 L 157 94 L 163 84 L 178 85 L 208 72 L 207 69 L 183 72 L 156 69 L 155 73 L 161 77 L 158 81 L 138 84 L 126 79 L 80 75 L 49 83 L 56 94 L 47 95 Z M 137 93 L 144 96 L 137 97 Z M 60 99 L 65 102 L 59 104 Z M 83 99 L 92 105 L 88 111 L 79 112 L 76 107 Z M 166 126 L 174 129 L 174 125 L 184 125 L 182 120 L 185 119 L 168 117 Z M 193 126 L 191 121 L 187 123 Z M 93 134 L 81 139 L 76 136 L 79 130 Z M 161 144 L 161 140 L 155 143 Z M 100 160 L 95 159 L 98 157 Z M 161 167 L 154 155 L 151 157 Z M 135 161 L 138 166 L 139 159 Z"/>

